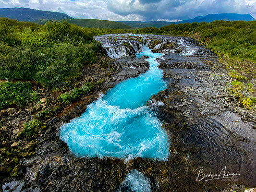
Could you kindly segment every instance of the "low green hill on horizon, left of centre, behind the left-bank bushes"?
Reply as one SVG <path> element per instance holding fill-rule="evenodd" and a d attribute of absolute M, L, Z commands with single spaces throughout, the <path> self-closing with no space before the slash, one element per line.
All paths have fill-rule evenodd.
<path fill-rule="evenodd" d="M 108 20 L 99 20 L 99 19 L 65 19 L 70 24 L 76 24 L 81 27 L 89 28 L 101 28 L 101 29 L 136 29 L 135 27 L 114 22 Z M 37 20 L 37 24 L 45 24 L 46 22 L 52 20 Z"/>

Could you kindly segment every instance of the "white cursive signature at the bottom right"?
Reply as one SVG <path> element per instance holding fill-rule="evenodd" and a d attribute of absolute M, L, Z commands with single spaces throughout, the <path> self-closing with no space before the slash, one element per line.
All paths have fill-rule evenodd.
<path fill-rule="evenodd" d="M 196 181 L 201 181 L 204 178 L 211 178 L 211 179 L 207 179 L 207 180 L 220 180 L 220 179 L 231 178 L 233 180 L 236 176 L 240 175 L 237 173 L 230 173 L 229 171 L 226 173 L 226 166 L 224 168 L 222 168 L 222 170 L 220 171 L 219 174 L 213 174 L 211 172 L 206 174 L 206 173 L 202 172 L 203 169 L 204 168 L 202 168 L 202 167 L 195 169 L 195 171 L 198 170 L 198 175 L 197 175 Z M 207 181 L 207 180 L 205 180 L 205 181 Z"/>

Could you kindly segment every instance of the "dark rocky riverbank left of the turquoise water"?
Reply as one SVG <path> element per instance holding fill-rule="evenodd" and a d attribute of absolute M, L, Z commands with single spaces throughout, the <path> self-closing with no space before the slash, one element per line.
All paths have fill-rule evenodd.
<path fill-rule="evenodd" d="M 97 64 L 87 66 L 85 79 L 76 82 L 99 82 L 102 84 L 79 101 L 70 105 L 57 102 L 57 96 L 65 91 L 49 92 L 34 85 L 34 90 L 43 97 L 29 108 L 1 110 L 1 184 L 3 191 L 113 191 L 125 175 L 125 165 L 118 159 L 77 158 L 59 139 L 59 127 L 74 117 L 80 116 L 86 105 L 96 100 L 100 93 L 119 82 L 146 72 L 149 64 L 144 58 L 134 56 L 110 60 L 102 58 Z M 42 112 L 51 111 L 48 116 Z M 32 138 L 20 136 L 24 122 L 38 119 L 44 129 Z M 42 114 L 43 115 L 43 114 Z M 119 166 L 122 168 L 120 169 Z M 114 168 L 116 167 L 116 168 Z M 113 177 L 113 168 L 120 171 Z M 13 170 L 12 170 L 13 169 Z M 11 173 L 11 177 L 8 176 Z M 54 176 L 53 176 L 54 175 Z M 5 184 L 4 184 L 5 183 Z M 46 184 L 48 183 L 48 184 Z M 79 184 L 80 183 L 80 184 Z"/>

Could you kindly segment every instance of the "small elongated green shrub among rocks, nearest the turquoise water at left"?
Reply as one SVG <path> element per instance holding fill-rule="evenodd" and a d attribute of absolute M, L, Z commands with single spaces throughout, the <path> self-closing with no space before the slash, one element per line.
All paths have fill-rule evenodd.
<path fill-rule="evenodd" d="M 79 89 L 73 88 L 70 92 L 61 94 L 58 96 L 57 100 L 64 104 L 70 104 L 86 93 L 89 93 L 94 88 L 94 86 L 95 85 L 93 83 L 85 83 Z"/>

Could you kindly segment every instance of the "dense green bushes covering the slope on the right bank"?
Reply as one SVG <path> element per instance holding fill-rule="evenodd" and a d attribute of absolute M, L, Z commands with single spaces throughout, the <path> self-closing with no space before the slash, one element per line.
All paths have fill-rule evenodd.
<path fill-rule="evenodd" d="M 236 59 L 256 61 L 256 21 L 171 24 L 160 28 L 139 29 L 137 33 L 192 36 L 206 42 L 215 52 L 222 52 Z"/>

